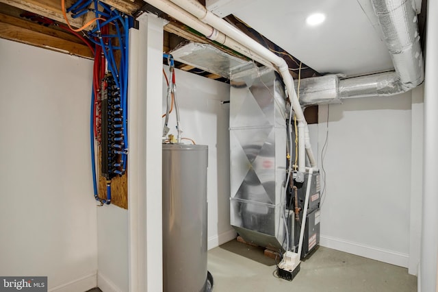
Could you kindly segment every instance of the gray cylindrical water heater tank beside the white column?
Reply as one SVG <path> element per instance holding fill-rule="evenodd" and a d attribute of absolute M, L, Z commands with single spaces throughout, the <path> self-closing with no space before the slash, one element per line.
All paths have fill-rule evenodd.
<path fill-rule="evenodd" d="M 205 145 L 163 145 L 163 286 L 204 292 L 207 281 Z"/>

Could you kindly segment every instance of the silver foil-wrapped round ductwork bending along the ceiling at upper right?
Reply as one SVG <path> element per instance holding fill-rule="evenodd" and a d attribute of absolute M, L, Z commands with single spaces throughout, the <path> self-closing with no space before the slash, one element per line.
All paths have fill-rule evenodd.
<path fill-rule="evenodd" d="M 395 71 L 343 79 L 326 75 L 301 80 L 300 104 L 339 103 L 353 97 L 404 93 L 424 80 L 418 21 L 411 0 L 372 0 Z M 297 85 L 297 82 L 295 82 Z"/>

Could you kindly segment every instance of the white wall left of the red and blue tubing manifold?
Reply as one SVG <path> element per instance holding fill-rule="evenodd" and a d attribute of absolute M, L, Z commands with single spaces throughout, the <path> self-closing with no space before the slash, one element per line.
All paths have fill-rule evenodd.
<path fill-rule="evenodd" d="M 0 275 L 96 286 L 92 61 L 0 39 Z"/>

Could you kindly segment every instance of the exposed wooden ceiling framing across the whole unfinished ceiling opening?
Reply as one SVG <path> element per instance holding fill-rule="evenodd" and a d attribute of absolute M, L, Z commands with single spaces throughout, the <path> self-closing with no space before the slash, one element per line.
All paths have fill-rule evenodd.
<path fill-rule="evenodd" d="M 102 0 L 104 3 L 111 5 L 112 7 L 125 12 L 127 14 L 136 15 L 140 11 L 147 10 L 148 5 L 142 0 Z M 66 0 L 66 7 L 72 5 L 75 0 Z M 146 8 L 146 9 L 145 9 Z M 73 55 L 92 58 L 92 53 L 88 47 L 79 40 L 79 38 L 73 36 L 68 32 L 64 32 L 57 29 L 57 25 L 42 25 L 36 22 L 34 19 L 23 17 L 23 12 L 32 12 L 40 16 L 47 17 L 60 24 L 65 24 L 66 21 L 62 14 L 61 0 L 0 0 L 0 38 L 8 40 L 14 40 L 18 42 L 24 42 L 29 45 L 35 45 L 38 47 L 44 47 L 46 49 L 53 49 L 55 51 L 62 51 Z M 157 13 L 157 10 L 154 11 Z M 168 20 L 168 24 L 164 27 L 164 48 L 163 51 L 171 51 L 179 42 L 183 40 L 189 40 L 192 42 L 207 43 L 218 47 L 218 49 L 229 53 L 238 58 L 244 58 L 235 51 L 222 47 L 205 36 L 193 31 L 190 27 L 179 23 L 175 19 L 168 17 L 166 14 L 161 13 L 161 17 Z M 68 22 L 73 27 L 81 27 L 90 19 L 90 16 L 81 16 L 77 19 L 73 19 L 68 16 Z M 240 29 L 244 30 L 251 37 L 257 39 L 263 39 L 263 44 L 268 46 L 273 51 L 281 50 L 281 48 L 275 47 L 275 45 L 257 34 L 249 27 L 240 23 L 237 19 L 230 16 L 228 21 L 236 25 Z M 288 53 L 280 51 L 279 54 L 287 60 L 291 66 L 291 73 L 294 77 L 297 77 L 296 71 L 298 70 L 299 60 L 294 59 Z M 190 68 L 186 64 L 177 64 L 180 69 L 185 71 L 191 71 L 196 74 L 209 77 L 211 79 L 226 81 L 211 72 L 204 72 L 196 68 Z M 188 69 L 190 68 L 190 69 Z M 305 66 L 303 66 L 305 68 Z M 307 68 L 307 67 L 306 67 Z M 303 69 L 302 77 L 311 77 L 318 75 L 313 69 Z"/>

